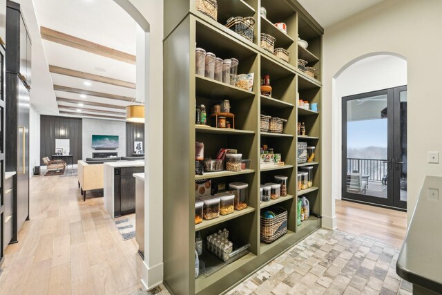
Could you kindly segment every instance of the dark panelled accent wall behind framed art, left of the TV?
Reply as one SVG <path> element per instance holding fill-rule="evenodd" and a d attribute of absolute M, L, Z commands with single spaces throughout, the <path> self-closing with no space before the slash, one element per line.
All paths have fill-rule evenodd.
<path fill-rule="evenodd" d="M 52 159 L 55 153 L 55 139 L 70 141 L 73 163 L 83 159 L 83 122 L 81 118 L 40 116 L 40 164 L 44 157 Z"/>

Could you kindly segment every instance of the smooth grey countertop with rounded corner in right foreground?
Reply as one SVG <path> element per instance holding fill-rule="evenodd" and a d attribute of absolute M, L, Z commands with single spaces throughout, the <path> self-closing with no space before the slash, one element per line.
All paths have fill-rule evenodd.
<path fill-rule="evenodd" d="M 396 272 L 410 283 L 442 293 L 442 177 L 427 176 L 414 209 Z"/>

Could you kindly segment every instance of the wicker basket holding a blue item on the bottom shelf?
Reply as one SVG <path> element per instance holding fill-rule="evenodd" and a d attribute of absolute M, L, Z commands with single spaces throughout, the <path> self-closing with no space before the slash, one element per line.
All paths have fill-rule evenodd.
<path fill-rule="evenodd" d="M 273 218 L 261 216 L 261 242 L 266 244 L 287 234 L 287 210 L 282 207 L 273 207 L 268 210 L 276 216 Z"/>

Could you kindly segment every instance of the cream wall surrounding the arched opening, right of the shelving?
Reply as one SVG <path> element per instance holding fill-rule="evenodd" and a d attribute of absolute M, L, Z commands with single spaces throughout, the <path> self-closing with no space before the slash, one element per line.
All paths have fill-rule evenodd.
<path fill-rule="evenodd" d="M 327 28 L 323 38 L 323 225 L 336 227 L 332 197 L 334 78 L 353 61 L 372 53 L 407 59 L 408 220 L 425 175 L 442 175 L 441 164 L 427 164 L 427 151 L 441 151 L 442 137 L 430 133 L 442 124 L 440 0 L 387 0 Z"/>

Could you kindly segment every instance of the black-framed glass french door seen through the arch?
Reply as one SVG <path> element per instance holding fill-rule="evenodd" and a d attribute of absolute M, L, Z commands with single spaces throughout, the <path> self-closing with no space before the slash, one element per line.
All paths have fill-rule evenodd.
<path fill-rule="evenodd" d="M 407 86 L 343 97 L 342 198 L 407 208 Z"/>

